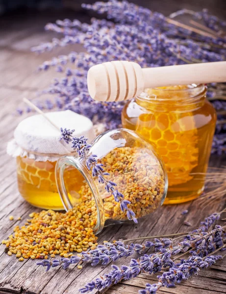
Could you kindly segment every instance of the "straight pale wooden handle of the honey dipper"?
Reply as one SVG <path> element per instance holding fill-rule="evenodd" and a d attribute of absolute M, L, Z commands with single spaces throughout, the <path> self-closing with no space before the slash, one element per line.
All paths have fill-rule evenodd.
<path fill-rule="evenodd" d="M 142 69 L 144 88 L 226 82 L 226 61 Z"/>

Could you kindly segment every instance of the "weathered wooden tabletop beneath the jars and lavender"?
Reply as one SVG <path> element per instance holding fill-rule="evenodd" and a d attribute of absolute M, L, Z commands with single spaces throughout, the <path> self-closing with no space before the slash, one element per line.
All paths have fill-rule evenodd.
<path fill-rule="evenodd" d="M 70 17 L 70 13 L 61 18 Z M 7 239 L 13 233 L 15 225 L 23 225 L 32 211 L 39 211 L 20 196 L 17 189 L 16 162 L 6 154 L 6 144 L 13 137 L 13 130 L 24 118 L 15 116 L 18 106 L 23 107 L 22 98 L 35 98 L 37 90 L 45 88 L 56 73 L 35 73 L 37 66 L 49 59 L 51 53 L 37 56 L 30 52 L 30 47 L 50 40 L 51 33 L 44 33 L 43 26 L 57 19 L 54 13 L 47 15 L 19 17 L 0 20 L 0 240 Z M 58 54 L 63 53 L 58 50 Z M 226 165 L 226 155 L 212 156 L 211 166 Z M 153 213 L 148 222 L 139 221 L 138 225 L 118 225 L 108 227 L 99 236 L 99 242 L 120 238 L 134 238 L 156 234 L 170 234 L 188 231 L 184 221 L 190 221 L 191 229 L 197 227 L 209 214 L 225 207 L 225 200 L 203 206 L 193 201 L 181 205 L 162 206 Z M 181 212 L 189 210 L 187 215 Z M 9 216 L 14 216 L 14 221 Z M 17 221 L 21 217 L 20 221 Z M 189 228 L 190 229 L 190 228 Z M 71 266 L 69 270 L 51 269 L 45 272 L 43 267 L 36 266 L 36 261 L 18 261 L 15 255 L 4 253 L 4 245 L 0 245 L 0 294 L 77 294 L 78 289 L 99 274 L 108 272 L 105 268 L 89 265 L 78 270 Z M 116 262 L 128 263 L 125 259 Z M 154 283 L 155 275 L 140 274 L 132 281 L 113 286 L 108 294 L 135 294 L 145 287 L 147 282 Z M 218 262 L 211 270 L 203 270 L 199 276 L 184 281 L 176 288 L 163 288 L 159 293 L 171 294 L 223 294 L 226 293 L 226 261 Z"/>

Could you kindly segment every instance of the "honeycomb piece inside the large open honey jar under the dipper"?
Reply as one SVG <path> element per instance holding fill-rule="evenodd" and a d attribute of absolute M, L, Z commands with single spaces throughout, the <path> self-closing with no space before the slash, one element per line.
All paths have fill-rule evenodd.
<path fill-rule="evenodd" d="M 186 183 L 198 165 L 198 136 L 191 114 L 155 112 L 139 116 L 137 131 L 148 139 L 162 157 L 169 186 Z M 153 123 L 155 122 L 155 123 Z"/>

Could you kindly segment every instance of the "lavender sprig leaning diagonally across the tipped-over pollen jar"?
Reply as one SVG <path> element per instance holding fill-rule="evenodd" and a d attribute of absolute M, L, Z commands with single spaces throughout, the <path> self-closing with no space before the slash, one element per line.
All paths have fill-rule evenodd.
<path fill-rule="evenodd" d="M 97 155 L 90 154 L 91 145 L 88 144 L 88 138 L 84 136 L 72 137 L 72 134 L 75 130 L 63 129 L 61 128 L 61 139 L 63 139 L 67 144 L 72 142 L 72 148 L 77 151 L 79 157 L 86 159 L 86 166 L 89 171 L 92 172 L 93 177 L 97 177 L 100 184 L 104 184 L 105 190 L 111 193 L 114 196 L 114 200 L 120 204 L 120 209 L 122 212 L 126 211 L 126 215 L 129 221 L 134 221 L 137 223 L 135 213 L 128 208 L 128 205 L 131 203 L 129 200 L 125 200 L 125 197 L 120 193 L 115 187 L 117 184 L 108 179 L 105 179 L 106 175 L 109 175 L 108 172 L 105 172 L 103 169 L 103 164 L 98 163 Z"/>

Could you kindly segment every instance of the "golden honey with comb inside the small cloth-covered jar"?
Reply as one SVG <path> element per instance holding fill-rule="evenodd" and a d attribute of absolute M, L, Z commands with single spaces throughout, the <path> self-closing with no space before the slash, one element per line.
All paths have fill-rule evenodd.
<path fill-rule="evenodd" d="M 27 202 L 45 209 L 64 209 L 55 182 L 56 161 L 35 161 L 27 157 L 17 157 L 17 178 L 20 194 Z M 67 169 L 64 179 L 71 191 L 82 185 L 80 172 Z"/>

